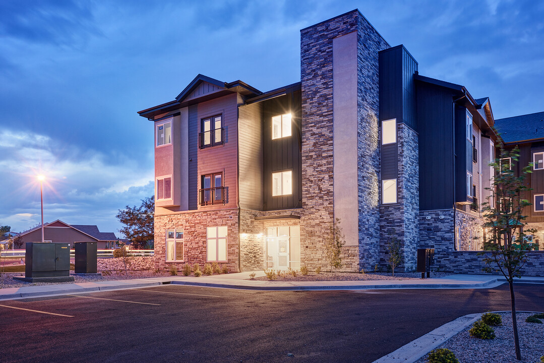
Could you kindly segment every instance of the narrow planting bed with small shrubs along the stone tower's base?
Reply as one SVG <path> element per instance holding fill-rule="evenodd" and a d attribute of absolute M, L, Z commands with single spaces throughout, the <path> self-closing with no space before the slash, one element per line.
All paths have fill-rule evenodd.
<path fill-rule="evenodd" d="M 452 275 L 446 272 L 431 272 L 431 278 L 443 278 L 444 276 Z M 255 278 L 254 280 L 269 281 L 267 276 Z M 320 274 L 309 273 L 302 275 L 300 272 L 296 276 L 282 273 L 281 276 L 274 281 L 357 281 L 357 280 L 421 280 L 421 272 L 397 272 L 394 276 L 391 273 L 372 272 L 358 274 L 354 272 L 338 272 L 331 274 L 322 272 Z"/>

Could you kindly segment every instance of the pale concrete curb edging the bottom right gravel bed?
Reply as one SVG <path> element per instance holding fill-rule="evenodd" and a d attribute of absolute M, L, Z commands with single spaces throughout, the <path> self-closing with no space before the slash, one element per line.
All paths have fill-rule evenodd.
<path fill-rule="evenodd" d="M 511 312 L 510 310 L 491 311 L 494 313 L 499 312 Z M 536 311 L 516 311 L 516 313 L 538 313 Z M 422 358 L 425 354 L 429 353 L 432 349 L 440 346 L 442 343 L 448 341 L 453 336 L 459 334 L 463 329 L 469 327 L 474 322 L 478 321 L 484 312 L 468 314 L 455 319 L 452 322 L 446 323 L 435 330 L 419 337 L 416 340 L 411 341 L 408 344 L 400 347 L 399 349 L 382 356 L 380 359 L 376 359 L 372 363 L 390 363 L 390 362 L 403 362 L 413 363 Z"/>

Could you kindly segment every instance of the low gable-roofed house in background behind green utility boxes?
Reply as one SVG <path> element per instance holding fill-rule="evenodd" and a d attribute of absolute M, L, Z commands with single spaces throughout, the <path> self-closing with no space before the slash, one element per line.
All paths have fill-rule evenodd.
<path fill-rule="evenodd" d="M 41 226 L 22 232 L 21 237 L 24 243 L 41 242 Z M 95 225 L 70 225 L 57 219 L 44 224 L 44 241 L 70 243 L 72 248 L 75 242 L 97 242 L 98 249 L 112 249 L 118 238 L 113 232 L 98 231 Z"/>

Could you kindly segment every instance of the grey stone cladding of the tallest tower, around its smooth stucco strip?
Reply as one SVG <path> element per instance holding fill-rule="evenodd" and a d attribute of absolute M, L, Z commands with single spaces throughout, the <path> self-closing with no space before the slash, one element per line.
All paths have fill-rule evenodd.
<path fill-rule="evenodd" d="M 380 158 L 378 147 L 378 52 L 389 47 L 358 10 L 301 30 L 302 263 L 325 266 L 324 237 L 333 220 L 332 45 L 357 32 L 358 245 L 345 250 L 350 269 L 379 259 Z"/>

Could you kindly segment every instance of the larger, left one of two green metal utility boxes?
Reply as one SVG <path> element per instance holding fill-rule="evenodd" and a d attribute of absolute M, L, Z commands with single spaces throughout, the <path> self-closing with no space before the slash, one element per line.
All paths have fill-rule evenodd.
<path fill-rule="evenodd" d="M 27 242 L 24 276 L 70 276 L 70 243 Z"/>

